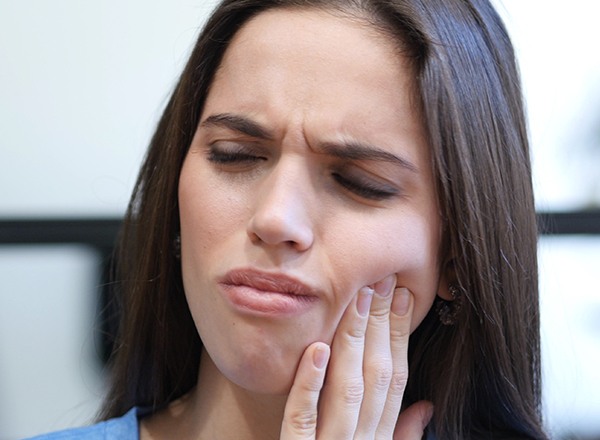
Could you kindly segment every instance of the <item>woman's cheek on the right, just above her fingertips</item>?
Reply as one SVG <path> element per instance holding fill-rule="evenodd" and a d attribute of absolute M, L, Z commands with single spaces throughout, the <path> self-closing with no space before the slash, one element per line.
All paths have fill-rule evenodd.
<path fill-rule="evenodd" d="M 439 284 L 441 236 L 438 223 L 431 218 L 436 217 L 405 214 L 379 221 L 365 219 L 360 227 L 351 228 L 352 233 L 336 235 L 332 245 L 335 257 L 333 253 L 330 256 L 332 271 L 345 274 L 346 291 L 357 291 L 396 274 L 396 285 L 408 288 L 415 298 L 412 330 L 431 308 Z M 336 230 L 347 231 L 348 226 Z"/>

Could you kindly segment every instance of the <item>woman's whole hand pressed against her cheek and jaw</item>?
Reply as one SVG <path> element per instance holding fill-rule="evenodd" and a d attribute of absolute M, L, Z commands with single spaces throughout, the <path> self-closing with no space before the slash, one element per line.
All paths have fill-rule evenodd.
<path fill-rule="evenodd" d="M 421 439 L 430 403 L 418 402 L 398 417 L 414 300 L 394 284 L 389 276 L 359 291 L 331 351 L 322 342 L 305 350 L 286 403 L 282 440 Z"/>

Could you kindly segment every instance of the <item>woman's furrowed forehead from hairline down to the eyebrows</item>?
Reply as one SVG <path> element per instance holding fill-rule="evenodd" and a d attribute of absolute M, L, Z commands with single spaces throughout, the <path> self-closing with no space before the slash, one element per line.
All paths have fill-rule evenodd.
<path fill-rule="evenodd" d="M 273 131 L 386 145 L 422 135 L 414 72 L 367 20 L 320 9 L 273 9 L 234 36 L 209 91 L 210 113 L 251 116 Z"/>

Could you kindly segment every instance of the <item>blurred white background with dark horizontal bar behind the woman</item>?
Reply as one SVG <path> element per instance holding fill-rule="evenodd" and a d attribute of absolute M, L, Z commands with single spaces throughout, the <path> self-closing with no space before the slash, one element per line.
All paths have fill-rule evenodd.
<path fill-rule="evenodd" d="M 0 0 L 0 440 L 98 409 L 106 254 L 214 3 Z M 546 424 L 600 439 L 600 2 L 495 3 L 557 232 L 540 239 Z"/>

